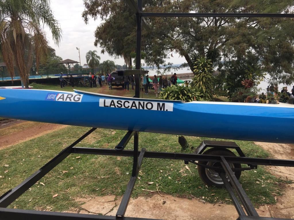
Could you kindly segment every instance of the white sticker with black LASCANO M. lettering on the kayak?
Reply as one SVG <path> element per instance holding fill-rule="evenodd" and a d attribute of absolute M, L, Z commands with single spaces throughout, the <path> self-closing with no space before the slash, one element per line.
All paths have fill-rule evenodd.
<path fill-rule="evenodd" d="M 137 101 L 120 99 L 99 99 L 99 107 L 122 108 L 122 109 L 143 109 L 154 111 L 173 111 L 171 102 Z"/>

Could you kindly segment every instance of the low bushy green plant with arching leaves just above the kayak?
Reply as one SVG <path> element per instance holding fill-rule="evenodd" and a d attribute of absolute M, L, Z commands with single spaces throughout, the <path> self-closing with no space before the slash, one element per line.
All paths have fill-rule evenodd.
<path fill-rule="evenodd" d="M 160 99 L 181 101 L 203 101 L 202 94 L 191 86 L 171 85 L 159 93 Z"/>

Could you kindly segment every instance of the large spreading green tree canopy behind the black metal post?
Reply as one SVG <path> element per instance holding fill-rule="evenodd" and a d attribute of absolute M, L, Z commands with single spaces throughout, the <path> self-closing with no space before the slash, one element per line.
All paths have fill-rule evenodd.
<path fill-rule="evenodd" d="M 132 57 L 135 50 L 135 17 L 125 1 L 85 0 L 83 18 L 104 21 L 96 29 L 95 45 L 107 53 Z M 199 13 L 293 13 L 293 0 L 182 0 L 146 1 L 144 12 Z M 273 79 L 294 80 L 294 20 L 289 18 L 146 18 L 151 31 L 143 30 L 142 51 L 147 65 L 164 63 L 169 53 L 185 57 L 193 71 L 199 57 L 211 59 L 216 66 L 254 56 L 263 71 Z M 123 28 L 122 28 L 123 27 Z M 254 59 L 255 59 L 254 58 Z M 126 59 L 125 59 L 126 60 Z"/>

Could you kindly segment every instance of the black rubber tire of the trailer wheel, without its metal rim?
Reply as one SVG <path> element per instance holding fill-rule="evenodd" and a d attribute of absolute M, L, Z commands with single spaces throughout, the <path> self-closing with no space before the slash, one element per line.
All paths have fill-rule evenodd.
<path fill-rule="evenodd" d="M 236 155 L 228 150 L 228 149 L 218 149 L 218 148 L 210 148 L 208 150 L 206 150 L 203 154 L 208 154 L 208 155 L 221 155 L 221 156 L 233 156 L 235 157 Z M 209 165 L 210 162 L 208 161 L 198 161 L 199 164 L 203 164 L 203 165 Z M 235 168 L 241 168 L 241 164 L 240 163 L 229 163 L 230 166 L 233 166 Z M 208 177 L 207 177 L 207 173 L 206 173 L 206 169 L 205 167 L 198 165 L 198 174 L 201 178 L 201 180 L 206 183 L 208 186 L 215 186 L 218 188 L 222 188 L 224 187 L 223 184 L 218 184 L 215 182 L 212 182 Z M 241 171 L 236 171 L 235 172 L 235 176 L 237 177 L 237 179 L 239 180 L 240 176 L 241 176 Z"/>

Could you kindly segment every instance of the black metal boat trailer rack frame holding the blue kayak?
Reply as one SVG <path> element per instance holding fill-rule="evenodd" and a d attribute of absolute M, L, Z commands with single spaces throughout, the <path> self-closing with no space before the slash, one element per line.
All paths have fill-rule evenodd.
<path fill-rule="evenodd" d="M 293 18 L 294 14 L 235 14 L 235 13 L 142 13 L 142 0 L 138 0 L 137 5 L 133 0 L 126 0 L 134 13 L 136 13 L 137 19 L 137 46 L 136 46 L 136 73 L 135 83 L 140 85 L 141 80 L 141 25 L 148 28 L 144 16 L 189 16 L 189 17 L 290 17 Z M 143 23 L 142 23 L 143 22 Z M 136 86 L 135 96 L 140 97 L 140 87 Z M 294 167 L 294 160 L 281 160 L 281 159 L 270 159 L 270 158 L 249 158 L 245 157 L 242 150 L 234 142 L 216 142 L 216 141 L 203 141 L 201 145 L 192 154 L 186 153 L 167 153 L 167 152 L 151 152 L 139 148 L 139 133 L 137 131 L 128 131 L 122 138 L 120 143 L 115 149 L 104 149 L 104 148 L 84 148 L 75 147 L 77 143 L 86 138 L 89 134 L 95 131 L 96 128 L 91 128 L 87 133 L 78 138 L 74 143 L 69 145 L 67 148 L 62 150 L 55 158 L 46 163 L 43 167 L 37 170 L 34 174 L 24 180 L 21 184 L 16 186 L 14 189 L 9 190 L 0 197 L 0 220 L 147 220 L 146 218 L 133 218 L 125 217 L 125 212 L 128 206 L 128 202 L 131 198 L 131 193 L 138 177 L 139 169 L 142 165 L 143 158 L 158 158 L 158 159 L 172 159 L 172 160 L 183 160 L 184 163 L 196 163 L 198 165 L 201 161 L 209 161 L 219 163 L 219 166 L 211 167 L 208 165 L 201 166 L 209 169 L 216 170 L 219 176 L 223 180 L 223 185 L 228 191 L 232 202 L 239 214 L 237 220 L 279 220 L 280 218 L 268 218 L 260 217 L 256 212 L 250 199 L 247 197 L 244 189 L 240 185 L 235 172 L 254 169 L 257 165 L 274 165 L 274 166 L 288 166 Z M 130 139 L 134 137 L 134 149 L 124 150 Z M 233 148 L 237 150 L 239 157 L 229 155 L 209 155 L 202 154 L 205 148 L 211 147 L 215 149 L 227 149 Z M 95 155 L 112 155 L 112 156 L 126 156 L 133 157 L 133 170 L 131 179 L 128 182 L 126 191 L 119 205 L 116 216 L 100 216 L 91 214 L 72 214 L 72 213 L 60 213 L 50 211 L 34 211 L 34 210 L 21 210 L 21 209 L 8 209 L 8 207 L 15 199 L 21 194 L 26 192 L 32 185 L 44 177 L 50 170 L 61 163 L 71 153 L 76 154 L 95 154 Z M 198 161 L 198 162 L 195 162 Z M 247 164 L 245 168 L 231 168 L 230 163 L 235 164 Z M 282 219 L 280 219 L 282 220 Z"/>

